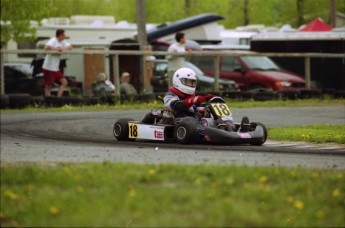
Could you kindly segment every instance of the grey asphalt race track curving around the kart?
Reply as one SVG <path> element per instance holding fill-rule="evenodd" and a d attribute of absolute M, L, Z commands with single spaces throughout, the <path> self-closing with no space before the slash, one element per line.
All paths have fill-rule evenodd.
<path fill-rule="evenodd" d="M 114 122 L 140 120 L 148 110 L 111 112 L 2 113 L 1 162 L 129 162 L 244 164 L 345 169 L 345 146 L 276 142 L 250 145 L 179 145 L 119 142 Z M 232 109 L 268 127 L 345 124 L 345 107 Z"/>

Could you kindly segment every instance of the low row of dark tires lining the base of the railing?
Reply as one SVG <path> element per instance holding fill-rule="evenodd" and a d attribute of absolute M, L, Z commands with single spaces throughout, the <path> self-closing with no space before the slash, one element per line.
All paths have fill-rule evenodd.
<path fill-rule="evenodd" d="M 295 99 L 322 99 L 324 96 L 330 98 L 343 99 L 345 98 L 345 91 L 341 90 L 296 90 L 296 91 L 271 91 L 265 89 L 243 91 L 243 92 L 221 92 L 213 93 L 218 96 L 229 99 L 237 99 L 241 101 L 255 100 L 295 100 Z M 97 105 L 97 104 L 124 104 L 132 102 L 148 103 L 154 100 L 162 102 L 165 93 L 155 94 L 139 94 L 139 95 L 120 95 L 120 96 L 89 96 L 89 97 L 44 97 L 44 96 L 31 96 L 29 94 L 5 94 L 1 95 L 1 109 L 20 109 L 27 106 L 33 107 L 63 107 L 82 106 L 82 105 Z M 208 93 L 198 93 L 198 95 L 207 95 Z"/>

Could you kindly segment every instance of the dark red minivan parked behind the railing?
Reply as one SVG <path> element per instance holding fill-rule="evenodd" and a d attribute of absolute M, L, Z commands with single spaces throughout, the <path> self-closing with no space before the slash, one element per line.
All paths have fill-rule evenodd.
<path fill-rule="evenodd" d="M 207 45 L 203 50 L 229 50 L 226 46 Z M 207 75 L 214 74 L 214 58 L 192 56 L 189 61 L 200 67 Z M 221 56 L 219 76 L 234 80 L 241 90 L 268 88 L 277 91 L 305 88 L 302 76 L 282 70 L 266 56 Z"/>

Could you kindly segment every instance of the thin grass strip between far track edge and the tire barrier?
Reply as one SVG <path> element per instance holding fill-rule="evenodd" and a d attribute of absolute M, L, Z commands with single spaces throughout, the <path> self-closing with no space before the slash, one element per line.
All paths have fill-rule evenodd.
<path fill-rule="evenodd" d="M 257 107 L 315 107 L 315 106 L 345 106 L 345 99 L 302 99 L 302 100 L 270 100 L 270 101 L 242 101 L 239 99 L 226 99 L 230 108 L 257 108 Z M 125 102 L 114 105 L 92 105 L 92 106 L 69 106 L 60 108 L 29 106 L 24 109 L 2 109 L 2 113 L 11 112 L 92 112 L 92 111 L 114 111 L 114 110 L 137 110 L 137 109 L 161 109 L 163 103 L 154 100 L 147 103 Z"/>

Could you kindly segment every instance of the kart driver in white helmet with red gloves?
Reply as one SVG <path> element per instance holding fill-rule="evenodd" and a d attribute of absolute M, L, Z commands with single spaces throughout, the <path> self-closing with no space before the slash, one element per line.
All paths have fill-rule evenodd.
<path fill-rule="evenodd" d="M 173 112 L 176 118 L 193 116 L 192 106 L 199 106 L 214 95 L 195 96 L 197 77 L 190 68 L 180 68 L 173 75 L 173 86 L 163 98 L 164 106 Z"/>

